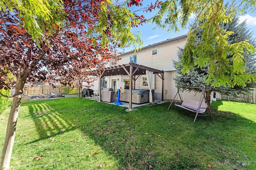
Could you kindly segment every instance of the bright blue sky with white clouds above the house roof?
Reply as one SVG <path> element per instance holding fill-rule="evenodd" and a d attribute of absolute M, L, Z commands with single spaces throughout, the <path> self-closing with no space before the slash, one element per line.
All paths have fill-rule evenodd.
<path fill-rule="evenodd" d="M 156 12 L 152 11 L 151 13 L 142 13 L 145 18 L 150 18 L 156 14 Z M 189 23 L 191 23 L 194 20 L 193 17 L 189 19 Z M 254 32 L 253 37 L 256 38 L 256 11 L 253 13 L 247 13 L 244 16 L 240 16 L 240 22 L 246 20 L 247 27 L 250 29 L 250 31 Z M 181 35 L 185 35 L 188 33 L 188 27 L 187 29 L 181 29 L 179 32 L 167 32 L 163 29 L 155 29 L 154 25 L 152 23 L 143 23 L 143 25 L 140 25 L 138 28 L 133 28 L 133 31 L 141 31 L 141 39 L 143 41 L 143 47 L 152 45 L 154 43 L 158 43 L 161 41 L 165 41 L 166 39 L 172 39 Z M 119 52 L 128 52 L 133 51 L 133 47 L 125 48 L 125 49 L 118 49 Z"/>

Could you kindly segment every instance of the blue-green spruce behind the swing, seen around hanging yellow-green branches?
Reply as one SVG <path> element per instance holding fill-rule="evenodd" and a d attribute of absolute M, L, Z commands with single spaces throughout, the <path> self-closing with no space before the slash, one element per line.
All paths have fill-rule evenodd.
<path fill-rule="evenodd" d="M 223 29 L 226 31 L 232 31 L 234 32 L 233 34 L 229 35 L 228 37 L 228 43 L 237 43 L 240 41 L 246 41 L 248 40 L 249 43 L 254 45 L 256 47 L 256 43 L 254 39 L 252 38 L 252 32 L 248 27 L 246 27 L 246 22 L 239 23 L 239 17 L 237 15 L 234 16 L 234 20 L 224 23 L 220 25 Z M 194 45 L 198 45 L 202 42 L 201 36 L 204 30 L 198 29 L 198 34 L 196 41 L 194 41 Z M 228 96 L 234 96 L 238 97 L 238 94 L 246 94 L 253 88 L 256 88 L 256 82 L 254 80 L 249 80 L 246 81 L 246 86 L 242 85 L 236 85 L 234 87 L 229 87 L 229 86 L 218 86 L 214 87 L 211 86 L 212 83 L 215 81 L 214 79 L 206 84 L 206 80 L 208 79 L 209 76 L 209 64 L 212 63 L 207 63 L 206 66 L 204 67 L 199 67 L 198 64 L 194 65 L 194 69 L 190 70 L 187 74 L 182 74 L 181 70 L 183 68 L 181 64 L 181 59 L 182 59 L 182 51 L 183 49 L 179 49 L 178 51 L 178 61 L 173 61 L 173 64 L 178 72 L 180 74 L 179 76 L 176 76 L 174 80 L 176 81 L 177 84 L 180 86 L 192 86 L 192 87 L 203 87 L 206 86 L 206 93 L 209 95 L 210 92 L 218 92 L 222 95 L 228 95 Z M 192 54 L 192 52 L 191 52 Z M 256 75 L 256 57 L 255 53 L 247 53 L 246 49 L 244 49 L 244 71 L 248 74 Z M 197 56 L 192 55 L 191 57 L 198 59 Z M 232 57 L 233 55 L 228 54 L 227 59 L 229 60 L 229 63 L 232 64 Z M 220 62 L 220 61 L 219 61 Z M 218 66 L 218 62 L 214 63 L 216 66 Z M 225 68 L 223 68 L 225 69 Z M 243 81 L 243 80 L 240 80 Z M 214 82 L 216 84 L 216 82 Z M 196 88 L 181 88 L 181 90 L 184 91 L 194 91 L 198 92 L 199 89 Z M 206 95 L 206 96 L 208 96 Z"/>

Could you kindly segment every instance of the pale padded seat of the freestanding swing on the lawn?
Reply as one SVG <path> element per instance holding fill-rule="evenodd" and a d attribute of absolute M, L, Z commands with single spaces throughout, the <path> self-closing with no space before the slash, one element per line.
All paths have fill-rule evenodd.
<path fill-rule="evenodd" d="M 199 107 L 199 103 L 200 102 L 196 100 L 185 99 L 181 105 L 175 104 L 175 106 L 182 107 L 183 109 L 196 112 Z M 202 102 L 198 113 L 204 113 L 206 109 L 207 109 L 207 104 Z"/>

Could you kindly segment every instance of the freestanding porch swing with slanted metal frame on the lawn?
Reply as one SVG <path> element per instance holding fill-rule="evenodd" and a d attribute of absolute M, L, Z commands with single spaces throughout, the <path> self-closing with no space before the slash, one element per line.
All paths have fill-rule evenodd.
<path fill-rule="evenodd" d="M 204 87 L 190 87 L 190 86 L 182 86 L 183 88 L 199 88 L 202 90 L 202 94 L 201 94 L 201 98 L 200 101 L 196 101 L 196 100 L 190 100 L 190 99 L 185 99 L 182 100 L 182 96 L 180 93 L 180 87 L 178 86 L 178 92 L 176 93 L 175 97 L 173 98 L 170 106 L 168 107 L 168 110 L 170 109 L 172 103 L 174 102 L 175 98 L 177 97 L 177 100 L 175 102 L 175 106 L 181 107 L 183 109 L 192 111 L 192 112 L 196 112 L 196 117 L 194 119 L 194 122 L 196 121 L 197 116 L 207 116 L 207 115 L 211 115 L 212 116 L 212 111 L 210 109 L 210 106 L 206 100 L 206 96 L 205 96 L 205 86 Z M 180 101 L 178 101 L 178 97 L 180 97 Z M 205 102 L 203 102 L 203 100 Z M 204 114 L 204 112 L 206 111 L 206 109 L 209 109 L 210 114 Z M 213 116 L 212 116 L 213 117 Z"/>

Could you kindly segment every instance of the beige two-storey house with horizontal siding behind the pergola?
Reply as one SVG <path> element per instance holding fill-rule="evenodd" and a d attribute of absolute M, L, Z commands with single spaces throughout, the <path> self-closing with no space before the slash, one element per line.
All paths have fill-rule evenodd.
<path fill-rule="evenodd" d="M 155 99 L 172 100 L 176 93 L 177 88 L 173 78 L 177 75 L 176 69 L 173 66 L 173 60 L 178 60 L 177 52 L 180 47 L 184 47 L 187 42 L 187 35 L 182 35 L 172 39 L 167 39 L 159 43 L 154 43 L 143 47 L 139 51 L 134 53 L 134 50 L 119 55 L 119 60 L 115 65 L 110 64 L 110 67 L 120 66 L 128 63 L 136 63 L 142 66 L 154 68 L 164 71 L 164 81 L 162 85 L 162 79 L 160 76 L 153 76 L 153 87 Z M 119 69 L 118 69 L 119 70 Z M 113 70 L 114 71 L 114 70 Z M 105 82 L 108 88 L 113 88 L 115 91 L 119 88 L 118 82 L 124 82 L 125 88 L 129 88 L 130 80 L 128 75 L 113 75 L 108 74 L 105 76 Z M 93 90 L 98 90 L 99 82 L 93 83 Z M 163 88 L 162 88 L 163 86 Z M 132 84 L 133 89 L 148 89 L 146 72 L 136 77 L 136 82 Z M 192 100 L 200 100 L 201 94 L 195 94 L 193 92 L 184 92 L 182 97 Z"/>

